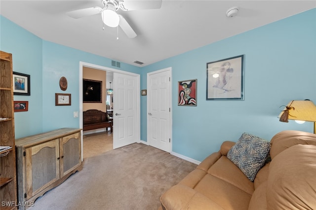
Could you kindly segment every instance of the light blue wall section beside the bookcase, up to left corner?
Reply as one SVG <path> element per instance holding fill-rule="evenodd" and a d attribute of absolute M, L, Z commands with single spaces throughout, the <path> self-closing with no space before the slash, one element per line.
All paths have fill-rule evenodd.
<path fill-rule="evenodd" d="M 28 112 L 15 112 L 15 137 L 42 131 L 42 40 L 0 16 L 0 50 L 11 53 L 13 71 L 29 74 L 31 95 L 14 95 L 15 101 L 29 101 Z"/>

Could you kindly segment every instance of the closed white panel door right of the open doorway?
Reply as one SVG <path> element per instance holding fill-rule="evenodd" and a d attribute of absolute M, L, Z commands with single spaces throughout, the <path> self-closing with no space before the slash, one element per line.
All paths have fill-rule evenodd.
<path fill-rule="evenodd" d="M 147 74 L 147 140 L 150 146 L 170 152 L 170 71 Z"/>

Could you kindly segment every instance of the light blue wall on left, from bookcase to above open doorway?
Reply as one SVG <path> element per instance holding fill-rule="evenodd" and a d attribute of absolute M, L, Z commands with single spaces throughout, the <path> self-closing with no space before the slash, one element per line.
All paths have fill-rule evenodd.
<path fill-rule="evenodd" d="M 14 100 L 29 101 L 28 112 L 14 114 L 15 137 L 22 138 L 62 127 L 79 127 L 79 61 L 113 67 L 111 60 L 40 39 L 0 16 L 0 50 L 12 53 L 13 71 L 31 75 L 31 95 L 14 95 Z M 111 50 L 111 49 L 105 49 Z M 137 66 L 121 63 L 117 68 L 140 73 Z M 60 77 L 68 88 L 59 88 Z M 55 93 L 71 93 L 71 106 L 55 106 Z"/>

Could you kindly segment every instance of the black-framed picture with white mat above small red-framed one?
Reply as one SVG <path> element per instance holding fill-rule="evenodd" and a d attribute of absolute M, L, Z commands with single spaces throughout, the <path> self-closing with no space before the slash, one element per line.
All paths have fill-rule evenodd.
<path fill-rule="evenodd" d="M 13 71 L 13 94 L 31 95 L 30 75 Z"/>

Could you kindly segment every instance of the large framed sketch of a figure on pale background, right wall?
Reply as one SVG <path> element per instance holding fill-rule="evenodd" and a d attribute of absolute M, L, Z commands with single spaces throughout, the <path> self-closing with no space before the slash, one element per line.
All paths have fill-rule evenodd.
<path fill-rule="evenodd" d="M 244 55 L 206 64 L 206 100 L 243 100 Z"/>

